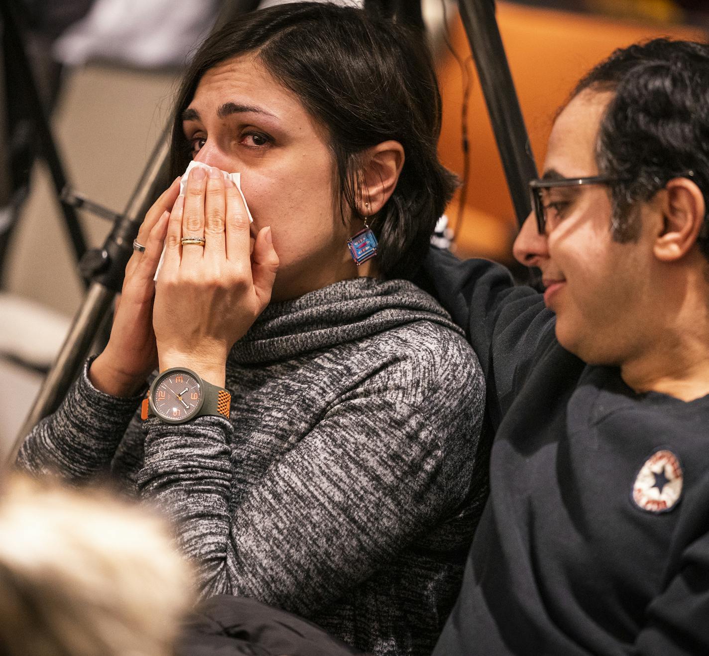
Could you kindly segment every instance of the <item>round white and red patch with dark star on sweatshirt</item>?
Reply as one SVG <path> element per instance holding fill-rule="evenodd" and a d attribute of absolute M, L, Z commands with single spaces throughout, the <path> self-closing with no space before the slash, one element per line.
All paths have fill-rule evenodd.
<path fill-rule="evenodd" d="M 640 468 L 632 487 L 632 500 L 651 513 L 664 513 L 682 494 L 682 468 L 668 450 L 654 452 Z"/>

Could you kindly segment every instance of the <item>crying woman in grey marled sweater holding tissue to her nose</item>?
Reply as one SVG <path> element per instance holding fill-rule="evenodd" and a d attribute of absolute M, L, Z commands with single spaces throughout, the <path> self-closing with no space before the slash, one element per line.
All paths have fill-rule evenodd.
<path fill-rule="evenodd" d="M 377 654 L 428 653 L 484 472 L 476 357 L 408 282 L 453 188 L 439 128 L 430 55 L 401 26 L 304 3 L 211 36 L 172 143 L 176 174 L 191 158 L 211 168 L 148 213 L 111 340 L 21 467 L 111 469 L 157 500 L 203 595 L 255 597 Z M 241 174 L 251 226 L 220 170 Z M 347 241 L 369 228 L 378 252 L 358 266 Z M 228 418 L 169 423 L 154 384 L 141 422 L 156 358 L 228 391 Z M 188 393 L 168 389 L 169 412 Z"/>

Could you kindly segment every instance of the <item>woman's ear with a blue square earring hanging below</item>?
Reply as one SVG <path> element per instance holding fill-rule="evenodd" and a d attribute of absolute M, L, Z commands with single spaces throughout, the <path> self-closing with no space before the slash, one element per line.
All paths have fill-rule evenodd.
<path fill-rule="evenodd" d="M 393 140 L 382 141 L 362 152 L 359 211 L 364 216 L 376 214 L 389 200 L 401 174 L 403 160 L 403 146 Z"/>

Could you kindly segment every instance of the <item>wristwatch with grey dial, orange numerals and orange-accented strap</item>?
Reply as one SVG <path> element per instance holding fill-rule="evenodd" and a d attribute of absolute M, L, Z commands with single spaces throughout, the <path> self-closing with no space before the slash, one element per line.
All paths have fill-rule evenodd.
<path fill-rule="evenodd" d="M 154 416 L 167 423 L 184 423 L 195 417 L 229 418 L 231 394 L 202 380 L 184 367 L 165 369 L 150 386 L 140 416 Z"/>

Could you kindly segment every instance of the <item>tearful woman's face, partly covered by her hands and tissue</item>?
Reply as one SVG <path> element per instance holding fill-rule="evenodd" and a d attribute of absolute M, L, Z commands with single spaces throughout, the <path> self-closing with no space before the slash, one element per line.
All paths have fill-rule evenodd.
<path fill-rule="evenodd" d="M 241 173 L 254 219 L 271 226 L 280 259 L 273 300 L 300 296 L 357 275 L 347 250 L 356 230 L 333 200 L 335 162 L 327 130 L 253 55 L 208 70 L 183 113 L 194 160 Z"/>

